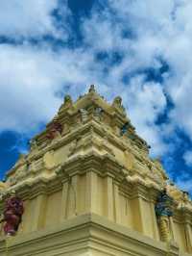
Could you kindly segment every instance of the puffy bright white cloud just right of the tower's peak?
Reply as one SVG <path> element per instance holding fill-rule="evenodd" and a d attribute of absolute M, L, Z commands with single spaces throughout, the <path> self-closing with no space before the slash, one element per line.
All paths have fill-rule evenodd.
<path fill-rule="evenodd" d="M 153 155 L 162 155 L 167 148 L 162 140 L 163 131 L 156 125 L 157 116 L 166 108 L 161 85 L 145 82 L 143 76 L 137 76 L 132 78 L 122 95 L 137 133 L 152 146 Z"/>

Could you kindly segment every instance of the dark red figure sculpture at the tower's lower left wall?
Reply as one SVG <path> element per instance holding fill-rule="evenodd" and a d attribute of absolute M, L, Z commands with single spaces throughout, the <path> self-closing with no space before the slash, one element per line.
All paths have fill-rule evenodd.
<path fill-rule="evenodd" d="M 16 195 L 6 200 L 4 210 L 4 232 L 13 236 L 18 230 L 24 212 L 23 201 Z"/>

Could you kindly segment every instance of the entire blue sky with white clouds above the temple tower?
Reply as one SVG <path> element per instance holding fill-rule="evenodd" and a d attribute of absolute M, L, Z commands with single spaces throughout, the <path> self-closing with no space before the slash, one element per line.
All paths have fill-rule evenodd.
<path fill-rule="evenodd" d="M 192 2 L 12 0 L 0 9 L 0 177 L 90 84 L 192 192 Z"/>

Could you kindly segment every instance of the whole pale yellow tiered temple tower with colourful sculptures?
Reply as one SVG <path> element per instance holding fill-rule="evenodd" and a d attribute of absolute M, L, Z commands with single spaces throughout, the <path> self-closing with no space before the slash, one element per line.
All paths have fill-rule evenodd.
<path fill-rule="evenodd" d="M 1 256 L 189 256 L 192 202 L 91 86 L 0 182 Z"/>

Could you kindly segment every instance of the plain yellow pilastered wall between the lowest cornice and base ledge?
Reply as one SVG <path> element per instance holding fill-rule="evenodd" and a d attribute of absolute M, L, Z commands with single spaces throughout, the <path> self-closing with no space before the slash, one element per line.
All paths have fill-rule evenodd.
<path fill-rule="evenodd" d="M 128 192 L 125 188 L 110 175 L 103 177 L 92 170 L 77 173 L 70 181 L 63 181 L 60 191 L 41 192 L 25 200 L 18 234 L 51 228 L 65 219 L 94 213 L 160 241 L 155 203 L 145 198 L 150 194 L 135 189 Z M 177 218 L 171 218 L 173 238 L 181 251 L 192 252 L 192 227 Z"/>

